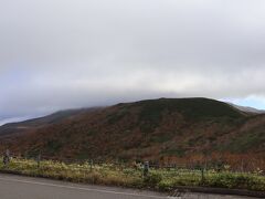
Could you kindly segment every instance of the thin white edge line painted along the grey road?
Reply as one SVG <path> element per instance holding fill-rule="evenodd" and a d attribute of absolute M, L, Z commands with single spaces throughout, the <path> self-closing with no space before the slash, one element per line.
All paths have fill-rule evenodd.
<path fill-rule="evenodd" d="M 112 190 L 104 190 L 104 189 L 92 189 L 92 188 L 82 188 L 82 187 L 74 187 L 74 186 L 63 186 L 56 184 L 47 184 L 47 182 L 38 182 L 38 181 L 30 181 L 30 180 L 20 180 L 20 179 L 11 179 L 11 178 L 1 178 L 2 181 L 14 181 L 21 184 L 31 184 L 31 185 L 40 185 L 40 186 L 47 186 L 47 187 L 57 187 L 57 188 L 65 188 L 65 189 L 76 189 L 76 190 L 84 190 L 84 191 L 95 191 L 102 193 L 113 193 L 113 195 L 126 195 L 132 197 L 147 197 L 147 198 L 160 198 L 166 199 L 167 197 L 159 197 L 159 196 L 150 196 L 150 195 L 140 195 L 140 193 L 132 193 L 132 192 L 119 192 L 119 191 L 112 191 Z"/>

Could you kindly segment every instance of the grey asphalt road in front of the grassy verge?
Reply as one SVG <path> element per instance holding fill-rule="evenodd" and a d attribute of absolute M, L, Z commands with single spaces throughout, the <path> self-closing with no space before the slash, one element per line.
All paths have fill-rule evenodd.
<path fill-rule="evenodd" d="M 87 186 L 0 174 L 1 199 L 169 199 L 162 193 Z M 178 199 L 242 199 L 243 197 L 188 193 Z M 248 198 L 250 199 L 250 198 Z"/>

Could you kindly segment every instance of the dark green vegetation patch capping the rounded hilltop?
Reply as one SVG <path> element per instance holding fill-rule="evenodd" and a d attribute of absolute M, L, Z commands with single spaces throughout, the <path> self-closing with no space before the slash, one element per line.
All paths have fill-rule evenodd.
<path fill-rule="evenodd" d="M 244 118 L 244 114 L 231 105 L 209 98 L 160 98 L 128 106 L 140 107 L 140 128 L 147 133 L 161 124 L 165 114 L 171 113 L 178 113 L 192 123 L 212 119 L 233 124 Z"/>

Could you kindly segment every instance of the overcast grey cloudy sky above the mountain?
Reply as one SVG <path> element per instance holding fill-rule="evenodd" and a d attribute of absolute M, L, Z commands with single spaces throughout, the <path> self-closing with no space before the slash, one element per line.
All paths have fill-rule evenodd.
<path fill-rule="evenodd" d="M 0 124 L 205 96 L 265 108 L 264 0 L 0 0 Z"/>

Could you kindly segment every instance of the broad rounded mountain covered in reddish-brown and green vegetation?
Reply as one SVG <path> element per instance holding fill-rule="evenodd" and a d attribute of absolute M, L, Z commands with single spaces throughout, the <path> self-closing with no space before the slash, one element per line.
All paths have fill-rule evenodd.
<path fill-rule="evenodd" d="M 62 115 L 62 116 L 59 116 Z M 52 119 L 53 118 L 53 119 Z M 0 149 L 75 159 L 265 155 L 265 115 L 209 98 L 160 98 L 51 115 L 11 126 Z M 26 129 L 19 127 L 26 126 Z"/>

